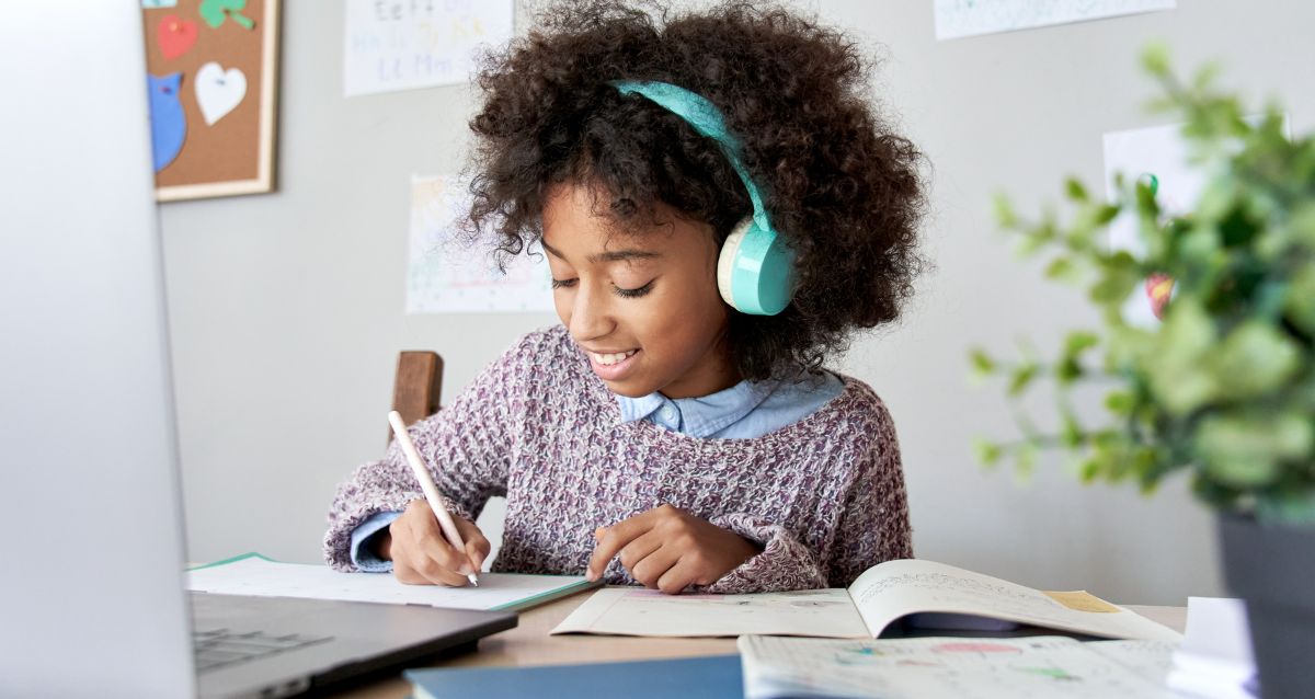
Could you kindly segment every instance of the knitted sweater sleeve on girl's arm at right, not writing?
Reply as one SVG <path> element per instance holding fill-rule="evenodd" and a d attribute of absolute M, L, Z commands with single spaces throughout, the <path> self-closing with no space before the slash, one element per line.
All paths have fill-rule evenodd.
<path fill-rule="evenodd" d="M 847 587 L 864 570 L 913 556 L 909 507 L 894 423 L 878 403 L 876 438 L 847 493 L 826 560 L 780 523 L 747 514 L 711 523 L 763 547 L 763 551 L 707 586 L 707 593 L 775 593 Z"/>

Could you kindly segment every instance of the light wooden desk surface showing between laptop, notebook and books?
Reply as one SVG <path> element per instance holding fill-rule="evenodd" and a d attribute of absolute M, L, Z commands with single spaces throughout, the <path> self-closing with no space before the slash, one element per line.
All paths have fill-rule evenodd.
<path fill-rule="evenodd" d="M 735 639 L 643 639 L 630 636 L 548 636 L 568 614 L 589 597 L 577 594 L 521 612 L 521 623 L 512 631 L 494 633 L 480 641 L 475 653 L 441 658 L 434 667 L 481 667 L 515 665 L 565 665 L 626 660 L 681 658 L 735 653 Z M 1182 632 L 1187 621 L 1186 607 L 1127 608 Z M 337 694 L 345 699 L 402 699 L 410 696 L 410 683 L 401 675 Z"/>

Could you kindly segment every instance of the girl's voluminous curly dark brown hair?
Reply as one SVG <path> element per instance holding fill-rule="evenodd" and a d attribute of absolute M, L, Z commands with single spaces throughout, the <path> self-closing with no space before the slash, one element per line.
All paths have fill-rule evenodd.
<path fill-rule="evenodd" d="M 872 63 L 843 33 L 761 3 L 646 7 L 555 3 L 483 56 L 469 225 L 496 233 L 505 261 L 542 239 L 544 198 L 568 183 L 604 192 L 619 222 L 664 202 L 723 242 L 751 204 L 717 142 L 609 81 L 684 87 L 722 110 L 797 254 L 782 313 L 730 314 L 731 359 L 750 380 L 815 372 L 913 293 L 922 155 L 864 99 Z"/>

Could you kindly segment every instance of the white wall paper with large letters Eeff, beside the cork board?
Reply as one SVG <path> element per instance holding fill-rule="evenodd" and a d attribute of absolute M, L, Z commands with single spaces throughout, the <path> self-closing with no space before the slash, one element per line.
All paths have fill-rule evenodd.
<path fill-rule="evenodd" d="M 466 83 L 479 46 L 506 43 L 512 21 L 512 0 L 346 0 L 343 95 Z"/>

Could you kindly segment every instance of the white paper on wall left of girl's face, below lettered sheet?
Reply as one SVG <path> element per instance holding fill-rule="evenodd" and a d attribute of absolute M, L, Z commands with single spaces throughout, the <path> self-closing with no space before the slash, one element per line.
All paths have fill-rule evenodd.
<path fill-rule="evenodd" d="M 513 260 L 504 275 L 492 243 L 467 246 L 456 222 L 469 212 L 466 184 L 454 175 L 413 176 L 406 264 L 406 313 L 552 311 L 552 276 L 543 255 Z"/>

